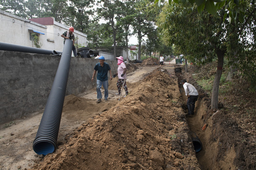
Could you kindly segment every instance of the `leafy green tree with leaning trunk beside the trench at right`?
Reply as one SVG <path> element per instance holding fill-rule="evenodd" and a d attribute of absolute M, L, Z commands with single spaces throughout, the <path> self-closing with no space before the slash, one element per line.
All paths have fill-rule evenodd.
<path fill-rule="evenodd" d="M 218 108 L 219 79 L 224 57 L 232 62 L 236 61 L 236 67 L 241 70 L 244 70 L 245 67 L 255 69 L 255 54 L 251 53 L 250 61 L 245 59 L 248 51 L 255 50 L 253 38 L 255 37 L 255 29 L 253 28 L 255 27 L 255 14 L 253 15 L 255 4 L 247 5 L 243 14 L 244 19 L 227 17 L 230 6 L 225 6 L 225 4 L 218 8 L 214 14 L 208 10 L 198 10 L 198 7 L 197 3 L 189 1 L 181 3 L 169 1 L 169 4 L 165 5 L 160 14 L 158 26 L 162 34 L 165 34 L 165 42 L 175 44 L 176 48 L 182 51 L 187 59 L 203 64 L 210 62 L 213 58 L 218 58 L 212 92 L 212 108 Z M 250 41 L 246 35 L 251 35 Z M 247 72 L 243 73 L 247 74 Z M 251 81 L 254 81 L 255 71 L 247 76 L 250 77 Z"/>

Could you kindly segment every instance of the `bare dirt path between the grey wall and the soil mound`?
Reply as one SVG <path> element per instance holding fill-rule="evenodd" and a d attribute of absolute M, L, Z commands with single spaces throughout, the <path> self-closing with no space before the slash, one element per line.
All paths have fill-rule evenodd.
<path fill-rule="evenodd" d="M 133 86 L 141 81 L 146 75 L 157 67 L 140 67 L 136 72 L 128 74 L 128 90 L 131 92 Z M 104 110 L 109 110 L 119 101 L 116 88 L 117 79 L 110 81 L 110 97 L 108 102 L 96 103 L 96 90 L 92 89 L 78 96 L 69 95 L 65 97 L 64 109 L 58 135 L 58 144 L 66 143 L 66 140 L 73 130 L 81 124 L 88 122 L 88 119 L 100 115 Z M 103 89 L 104 90 L 104 89 Z M 102 90 L 102 92 L 103 92 Z M 124 91 L 121 99 L 125 95 Z M 44 110 L 35 112 L 33 117 L 15 120 L 0 128 L 0 170 L 26 169 L 39 161 L 38 156 L 32 148 L 37 129 Z"/>

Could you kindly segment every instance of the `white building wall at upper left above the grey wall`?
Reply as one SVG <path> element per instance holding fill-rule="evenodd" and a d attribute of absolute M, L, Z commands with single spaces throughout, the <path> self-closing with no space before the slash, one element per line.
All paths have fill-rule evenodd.
<path fill-rule="evenodd" d="M 68 28 L 69 26 L 64 26 L 55 20 L 54 25 L 44 26 L 0 10 L 0 30 L 3 33 L 0 42 L 35 47 L 29 39 L 28 29 L 31 29 L 45 34 L 39 34 L 41 49 L 63 51 L 64 43 L 61 34 L 67 31 Z M 74 35 L 77 38 L 77 43 L 86 47 L 87 35 L 76 30 L 74 30 Z"/>

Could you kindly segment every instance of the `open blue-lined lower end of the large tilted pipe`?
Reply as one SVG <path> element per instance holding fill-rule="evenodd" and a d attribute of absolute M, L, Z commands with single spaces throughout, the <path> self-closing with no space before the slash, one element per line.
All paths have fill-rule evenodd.
<path fill-rule="evenodd" d="M 56 143 L 53 141 L 55 139 L 49 136 L 40 136 L 33 142 L 33 150 L 37 154 L 46 155 L 48 153 L 53 153 L 56 148 Z"/>

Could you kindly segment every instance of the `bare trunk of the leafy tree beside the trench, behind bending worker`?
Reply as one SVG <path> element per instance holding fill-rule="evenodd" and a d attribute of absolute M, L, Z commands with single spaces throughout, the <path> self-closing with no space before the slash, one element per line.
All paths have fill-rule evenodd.
<path fill-rule="evenodd" d="M 219 101 L 219 81 L 222 74 L 223 62 L 225 51 L 217 50 L 218 66 L 216 75 L 213 82 L 212 94 L 211 94 L 211 109 L 218 109 Z"/>

